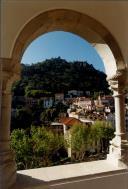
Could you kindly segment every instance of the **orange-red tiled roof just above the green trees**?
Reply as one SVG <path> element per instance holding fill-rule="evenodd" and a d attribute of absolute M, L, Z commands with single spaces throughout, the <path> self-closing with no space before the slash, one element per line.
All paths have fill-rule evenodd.
<path fill-rule="evenodd" d="M 65 117 L 60 119 L 60 123 L 63 123 L 67 126 L 73 126 L 75 124 L 81 124 L 82 122 L 73 117 Z"/>

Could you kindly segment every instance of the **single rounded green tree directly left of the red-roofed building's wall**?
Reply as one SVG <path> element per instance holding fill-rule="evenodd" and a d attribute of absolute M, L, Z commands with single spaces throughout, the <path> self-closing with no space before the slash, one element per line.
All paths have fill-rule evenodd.
<path fill-rule="evenodd" d="M 54 159 L 56 161 L 57 158 L 60 158 L 59 150 L 64 147 L 63 136 L 55 135 L 44 127 L 32 127 L 31 136 L 33 153 L 36 159 L 40 159 L 40 162 L 38 162 L 39 166 L 52 165 Z"/>

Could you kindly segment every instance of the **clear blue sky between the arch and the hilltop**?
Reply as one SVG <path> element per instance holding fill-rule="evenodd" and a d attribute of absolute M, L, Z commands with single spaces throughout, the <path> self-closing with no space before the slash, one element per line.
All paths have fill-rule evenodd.
<path fill-rule="evenodd" d="M 49 32 L 36 38 L 25 50 L 21 62 L 32 64 L 59 56 L 67 61 L 87 61 L 104 71 L 101 58 L 87 41 L 63 31 Z"/>

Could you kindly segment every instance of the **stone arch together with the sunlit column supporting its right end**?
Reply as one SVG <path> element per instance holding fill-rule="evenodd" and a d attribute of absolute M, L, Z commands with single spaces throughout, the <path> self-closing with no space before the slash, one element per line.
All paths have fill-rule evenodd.
<path fill-rule="evenodd" d="M 69 9 L 55 9 L 43 12 L 32 18 L 21 30 L 12 50 L 12 70 L 20 71 L 20 61 L 26 47 L 38 36 L 50 31 L 67 31 L 79 35 L 88 42 L 103 44 L 105 52 L 99 54 L 103 59 L 106 54 L 105 66 L 108 69 L 108 81 L 115 100 L 115 137 L 111 142 L 108 160 L 119 165 L 128 165 L 128 142 L 125 127 L 124 89 L 126 87 L 127 67 L 120 47 L 109 30 L 94 18 Z M 103 56 L 102 56 L 103 55 Z M 111 60 L 108 57 L 112 57 Z M 111 61 L 107 65 L 107 61 Z M 114 67 L 113 67 L 113 64 Z M 110 72 L 110 74 L 109 74 Z M 118 154 L 118 155 L 117 155 Z"/>

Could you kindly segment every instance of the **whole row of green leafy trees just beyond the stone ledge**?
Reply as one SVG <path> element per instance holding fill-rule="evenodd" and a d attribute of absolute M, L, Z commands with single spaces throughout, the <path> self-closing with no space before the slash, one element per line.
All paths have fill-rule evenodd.
<path fill-rule="evenodd" d="M 102 159 L 113 133 L 113 128 L 105 122 L 96 122 L 92 127 L 74 125 L 71 138 L 65 140 L 63 135 L 49 129 L 32 126 L 30 130 L 13 130 L 11 146 L 16 152 L 18 169 L 30 169 Z M 67 148 L 71 146 L 72 157 L 68 158 Z"/>

